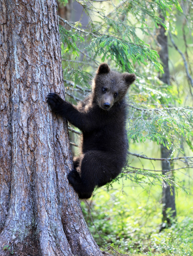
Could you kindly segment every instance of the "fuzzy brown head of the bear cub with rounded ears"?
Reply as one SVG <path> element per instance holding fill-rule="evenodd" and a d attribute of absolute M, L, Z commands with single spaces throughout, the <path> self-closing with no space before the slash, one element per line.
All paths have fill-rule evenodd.
<path fill-rule="evenodd" d="M 116 102 L 121 102 L 135 79 L 135 74 L 111 71 L 106 63 L 102 63 L 93 79 L 93 98 L 100 108 L 109 110 Z"/>

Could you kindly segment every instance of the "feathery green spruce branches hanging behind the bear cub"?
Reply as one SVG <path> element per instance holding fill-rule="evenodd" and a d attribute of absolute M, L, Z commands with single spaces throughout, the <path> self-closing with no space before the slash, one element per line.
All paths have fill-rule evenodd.
<path fill-rule="evenodd" d="M 179 1 L 109 1 L 103 5 L 106 8 L 94 1 L 77 2 L 89 17 L 88 25 L 82 27 L 80 22 L 60 19 L 67 95 L 72 101 L 83 99 L 89 92 L 93 71 L 101 62 L 121 72 L 134 72 L 138 79 L 128 98 L 130 143 L 149 140 L 163 144 L 171 149 L 171 158 L 183 155 L 187 146 L 193 151 L 193 108 L 181 105 L 175 84 L 163 84 L 158 79 L 163 67 L 155 50 L 157 45 L 152 43 L 155 28 L 162 25 L 168 31 L 170 15 L 182 12 Z M 193 158 L 186 158 L 184 164 L 193 167 Z M 148 183 L 152 177 L 179 187 L 167 175 L 146 169 L 127 166 L 123 175 L 136 182 L 147 177 L 144 182 Z"/>

